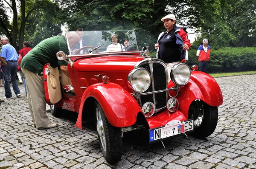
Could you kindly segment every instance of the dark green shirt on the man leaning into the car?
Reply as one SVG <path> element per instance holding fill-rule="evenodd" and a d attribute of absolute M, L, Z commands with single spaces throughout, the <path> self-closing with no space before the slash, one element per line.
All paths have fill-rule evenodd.
<path fill-rule="evenodd" d="M 20 67 L 29 70 L 33 73 L 40 74 L 43 72 L 44 65 L 49 63 L 53 68 L 58 65 L 67 65 L 67 62 L 59 61 L 57 59 L 57 52 L 67 52 L 67 45 L 64 36 L 55 36 L 48 39 L 44 39 L 38 45 L 29 51 L 22 59 Z"/>

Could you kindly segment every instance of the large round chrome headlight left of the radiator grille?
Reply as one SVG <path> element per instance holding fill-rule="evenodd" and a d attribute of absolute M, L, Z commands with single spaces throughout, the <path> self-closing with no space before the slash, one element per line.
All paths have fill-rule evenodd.
<path fill-rule="evenodd" d="M 131 70 L 128 75 L 128 82 L 132 89 L 137 93 L 145 92 L 151 84 L 151 76 L 148 70 L 137 68 Z"/>

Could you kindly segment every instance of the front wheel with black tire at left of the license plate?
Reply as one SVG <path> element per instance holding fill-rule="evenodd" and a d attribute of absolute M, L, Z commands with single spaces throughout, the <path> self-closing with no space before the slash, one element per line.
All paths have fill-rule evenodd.
<path fill-rule="evenodd" d="M 120 161 L 122 156 L 121 130 L 108 122 L 99 102 L 95 104 L 95 111 L 96 128 L 103 157 L 110 164 L 116 163 Z"/>

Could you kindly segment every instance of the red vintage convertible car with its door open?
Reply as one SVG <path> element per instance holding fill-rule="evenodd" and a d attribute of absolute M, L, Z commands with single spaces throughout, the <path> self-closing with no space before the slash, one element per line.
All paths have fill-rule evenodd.
<path fill-rule="evenodd" d="M 86 32 L 84 32 L 84 34 L 86 34 Z M 137 48 L 136 45 L 134 48 Z M 93 48 L 92 46 L 89 47 Z M 68 48 L 70 49 L 69 46 Z M 99 49 L 100 48 L 97 48 L 97 50 Z M 154 93 L 157 92 L 155 89 L 157 88 L 156 83 L 160 86 L 162 82 L 159 83 L 156 81 L 153 83 L 153 80 L 159 78 L 161 75 L 163 83 L 167 82 L 167 74 L 163 74 L 162 77 L 160 73 L 160 69 L 166 73 L 166 66 L 160 59 L 140 56 L 140 54 L 137 49 L 127 52 L 69 54 L 67 56 L 69 59 L 68 71 L 70 75 L 68 82 L 72 83 L 75 94 L 64 92 L 61 87 L 63 85 L 62 79 L 64 75 L 59 72 L 59 75 L 55 76 L 57 81 L 58 76 L 60 76 L 60 86 L 56 88 L 56 90 L 59 90 L 57 93 L 60 99 L 54 102 L 51 101 L 51 97 L 57 98 L 57 95 L 53 94 L 53 96 L 51 96 L 51 91 L 48 90 L 50 82 L 50 73 L 48 70 L 54 68 L 50 68 L 49 64 L 45 65 L 44 68 L 43 76 L 46 100 L 49 105 L 54 105 L 51 106 L 53 115 L 57 115 L 57 113 L 59 115 L 61 108 L 79 113 L 75 126 L 81 130 L 83 129 L 82 119 L 84 117 L 95 118 L 96 115 L 96 126 L 102 153 L 109 163 L 115 163 L 121 158 L 122 149 L 121 152 L 120 150 L 111 152 L 109 149 L 113 149 L 114 146 L 122 148 L 122 145 L 119 145 L 122 132 L 146 128 L 149 131 L 149 142 L 154 142 L 163 139 L 161 136 L 157 138 L 162 127 L 165 127 L 164 129 L 168 132 L 171 131 L 167 129 L 171 123 L 173 130 L 178 125 L 177 123 L 184 124 L 182 129 L 178 128 L 176 134 L 179 134 L 186 132 L 186 122 L 183 121 L 192 119 L 190 122 L 194 123 L 194 125 L 193 129 L 189 132 L 194 132 L 197 137 L 207 137 L 214 132 L 217 125 L 218 106 L 222 104 L 223 97 L 220 87 L 211 76 L 200 71 L 189 70 L 190 75 L 187 75 L 189 79 L 186 84 L 177 85 L 175 82 L 170 81 L 166 84 L 166 87 L 159 92 L 164 93 L 162 95 L 163 99 L 157 100 L 158 94 Z M 149 66 L 145 63 L 149 63 L 149 65 L 157 63 L 160 69 L 157 67 L 153 71 L 154 66 L 148 68 Z M 180 66 L 186 67 L 184 64 Z M 152 80 L 152 90 L 148 90 L 147 92 L 154 94 L 145 94 L 143 96 L 143 92 L 134 91 L 131 84 L 133 82 L 131 82 L 131 78 L 129 79 L 129 77 L 131 76 L 131 71 L 138 68 L 143 69 L 142 71 L 144 71 L 144 73 L 145 70 L 148 69 Z M 153 72 L 155 73 L 157 70 L 159 70 L 159 74 L 154 76 Z M 137 79 L 139 77 L 140 76 L 138 76 Z M 102 78 L 106 78 L 107 80 Z M 139 82 L 143 81 L 138 80 L 138 83 Z M 142 101 L 145 100 L 145 98 L 147 99 L 147 97 L 153 104 L 162 104 L 160 101 L 164 102 L 162 107 L 157 108 L 156 106 L 154 112 L 152 112 L 154 114 L 150 116 L 147 116 L 146 113 L 150 113 L 151 108 L 145 110 L 145 104 L 148 104 L 148 102 L 144 101 L 144 104 Z M 172 98 L 173 100 L 169 101 Z M 175 103 L 172 104 L 173 101 L 176 101 L 179 106 L 177 107 Z M 175 110 L 174 112 L 170 112 L 172 108 Z M 146 113 L 144 113 L 145 111 Z M 205 120 L 210 122 L 206 122 Z M 103 124 L 99 124 L 101 121 L 103 121 Z M 196 124 L 197 122 L 199 122 L 198 125 Z M 109 128 L 111 128 L 111 131 L 112 129 L 115 131 L 113 133 L 117 132 L 117 134 L 113 134 L 116 136 L 114 139 L 118 142 L 116 145 L 108 145 L 108 141 L 111 143 L 112 140 L 110 139 L 112 138 L 108 138 L 108 134 L 106 134 L 105 130 Z"/>

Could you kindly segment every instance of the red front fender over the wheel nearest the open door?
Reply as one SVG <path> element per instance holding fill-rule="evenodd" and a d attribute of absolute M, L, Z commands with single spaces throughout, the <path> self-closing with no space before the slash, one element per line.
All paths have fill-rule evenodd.
<path fill-rule="evenodd" d="M 93 97 L 101 105 L 109 123 L 115 127 L 127 127 L 136 122 L 137 114 L 142 112 L 139 104 L 120 85 L 97 83 L 90 85 L 83 93 L 79 115 L 75 127 L 82 129 L 82 113 L 85 101 Z"/>

